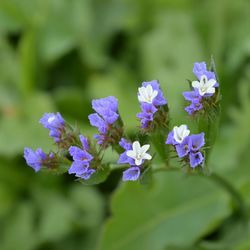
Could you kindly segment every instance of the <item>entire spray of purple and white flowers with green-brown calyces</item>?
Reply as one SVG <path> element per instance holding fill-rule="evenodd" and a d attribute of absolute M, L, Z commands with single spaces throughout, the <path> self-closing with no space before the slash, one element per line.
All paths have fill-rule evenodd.
<path fill-rule="evenodd" d="M 214 67 L 208 70 L 205 62 L 195 63 L 193 73 L 197 80 L 190 81 L 191 91 L 183 93 L 185 100 L 191 102 L 185 110 L 195 122 L 198 118 L 198 124 L 202 121 L 204 124 L 204 117 L 206 124 L 212 123 L 214 116 L 211 114 L 219 110 L 220 100 Z M 157 80 L 143 82 L 138 88 L 137 98 L 141 108 L 137 114 L 140 121 L 137 139 L 131 140 L 126 136 L 118 100 L 108 96 L 92 101 L 95 113 L 88 118 L 99 132 L 94 135 L 94 140 L 80 134 L 59 112 L 45 113 L 40 123 L 49 130 L 58 150 L 46 154 L 40 148 L 36 151 L 25 148 L 27 164 L 36 172 L 44 168 L 67 171 L 82 182 L 97 184 L 110 174 L 110 164 L 104 164 L 102 159 L 105 150 L 112 147 L 119 154 L 115 166 L 118 168 L 120 165 L 123 169 L 123 181 L 143 181 L 146 175 L 159 171 L 152 164 L 157 154 L 163 159 L 165 169 L 170 168 L 169 160 L 175 157 L 187 171 L 204 172 L 208 149 L 212 147 L 211 129 L 204 127 L 198 133 L 190 134 L 188 126 L 182 124 L 170 130 L 168 102 Z"/>

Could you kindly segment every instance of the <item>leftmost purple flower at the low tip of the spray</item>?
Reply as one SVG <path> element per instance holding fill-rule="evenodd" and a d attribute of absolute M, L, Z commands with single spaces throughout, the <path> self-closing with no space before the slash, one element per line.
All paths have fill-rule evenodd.
<path fill-rule="evenodd" d="M 42 165 L 46 165 L 48 158 L 54 158 L 54 154 L 51 153 L 48 156 L 42 151 L 41 148 L 38 148 L 36 151 L 33 151 L 30 148 L 24 148 L 24 158 L 27 165 L 32 167 L 35 172 L 38 172 L 41 169 Z"/>

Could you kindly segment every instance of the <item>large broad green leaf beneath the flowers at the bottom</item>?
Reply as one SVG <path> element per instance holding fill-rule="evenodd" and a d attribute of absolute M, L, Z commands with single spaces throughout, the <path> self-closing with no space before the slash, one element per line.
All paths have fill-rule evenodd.
<path fill-rule="evenodd" d="M 151 190 L 138 183 L 121 185 L 112 200 L 100 250 L 160 250 L 191 245 L 230 213 L 228 197 L 208 179 L 158 176 Z"/>

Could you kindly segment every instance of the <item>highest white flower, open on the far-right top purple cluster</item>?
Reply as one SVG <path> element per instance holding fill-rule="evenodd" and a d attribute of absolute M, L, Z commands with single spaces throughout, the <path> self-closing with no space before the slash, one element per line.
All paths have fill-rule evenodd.
<path fill-rule="evenodd" d="M 216 80 L 215 79 L 208 80 L 206 75 L 202 75 L 200 81 L 192 82 L 193 88 L 197 88 L 201 96 L 204 96 L 205 94 L 214 94 L 215 84 Z"/>

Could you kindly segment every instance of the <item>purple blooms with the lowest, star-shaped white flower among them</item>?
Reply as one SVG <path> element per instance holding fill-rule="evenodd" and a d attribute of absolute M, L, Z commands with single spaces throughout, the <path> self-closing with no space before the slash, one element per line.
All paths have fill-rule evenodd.
<path fill-rule="evenodd" d="M 123 181 L 135 181 L 140 177 L 144 161 L 152 159 L 151 155 L 147 153 L 150 145 L 146 144 L 141 147 L 138 141 L 132 144 L 124 138 L 121 139 L 119 144 L 125 149 L 125 152 L 120 155 L 118 163 L 130 165 L 130 167 L 123 172 L 122 179 Z"/>

